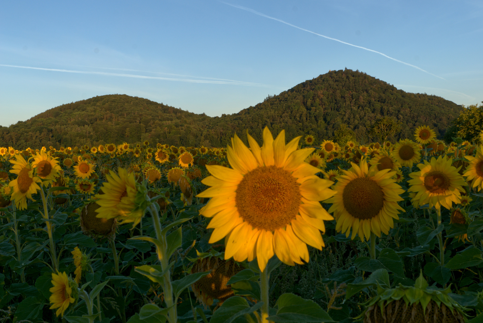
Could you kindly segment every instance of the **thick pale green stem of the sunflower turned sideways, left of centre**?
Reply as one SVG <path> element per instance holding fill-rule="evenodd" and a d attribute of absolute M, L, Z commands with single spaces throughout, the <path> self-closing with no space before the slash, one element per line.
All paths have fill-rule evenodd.
<path fill-rule="evenodd" d="M 176 300 L 173 300 L 173 286 L 171 285 L 171 272 L 166 270 L 169 267 L 169 259 L 167 257 L 168 246 L 166 244 L 166 236 L 161 232 L 161 220 L 159 219 L 159 213 L 156 207 L 151 205 L 149 207 L 151 214 L 153 215 L 153 224 L 156 231 L 156 238 L 161 243 L 161 248 L 156 245 L 157 256 L 159 262 L 161 263 L 161 269 L 165 271 L 163 276 L 163 292 L 164 292 L 164 302 L 166 307 L 170 308 L 168 311 L 168 322 L 176 323 L 178 320 L 178 311 L 176 308 Z"/>

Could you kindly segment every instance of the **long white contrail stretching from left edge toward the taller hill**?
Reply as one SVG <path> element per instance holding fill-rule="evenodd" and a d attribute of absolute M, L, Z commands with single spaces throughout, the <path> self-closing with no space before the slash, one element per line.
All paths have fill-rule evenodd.
<path fill-rule="evenodd" d="M 219 80 L 219 79 L 213 79 L 213 78 L 208 78 L 208 77 L 205 77 L 205 80 L 193 80 L 193 79 L 185 79 L 185 78 L 146 76 L 146 75 L 138 75 L 138 74 L 121 74 L 121 73 L 108 73 L 108 72 L 63 70 L 63 69 L 52 69 L 52 68 L 31 67 L 31 66 L 18 66 L 18 65 L 7 65 L 7 64 L 0 64 L 0 66 L 24 68 L 24 69 L 30 69 L 30 70 L 64 72 L 64 73 L 79 73 L 79 74 L 118 76 L 118 77 L 133 77 L 133 78 L 144 78 L 144 79 L 165 80 L 165 81 L 178 81 L 178 82 L 188 82 L 188 83 L 231 84 L 231 85 L 243 85 L 243 86 L 249 86 L 249 87 L 278 88 L 278 89 L 286 90 L 286 88 L 275 87 L 275 86 L 268 85 L 268 84 L 234 81 L 234 80 Z"/>

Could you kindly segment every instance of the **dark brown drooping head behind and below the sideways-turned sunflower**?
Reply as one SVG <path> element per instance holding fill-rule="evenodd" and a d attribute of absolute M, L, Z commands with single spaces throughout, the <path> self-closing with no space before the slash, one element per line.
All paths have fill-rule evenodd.
<path fill-rule="evenodd" d="M 101 194 L 102 191 L 99 191 Z M 96 210 L 100 206 L 94 201 L 82 208 L 79 220 L 82 232 L 93 238 L 114 237 L 117 229 L 117 220 L 114 218 L 98 218 Z"/>

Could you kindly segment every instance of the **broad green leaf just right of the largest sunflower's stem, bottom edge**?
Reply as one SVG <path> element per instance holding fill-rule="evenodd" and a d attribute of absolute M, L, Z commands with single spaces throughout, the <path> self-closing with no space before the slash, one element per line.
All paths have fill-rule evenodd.
<path fill-rule="evenodd" d="M 280 295 L 277 314 L 268 317 L 276 323 L 335 322 L 317 303 L 292 293 Z"/>

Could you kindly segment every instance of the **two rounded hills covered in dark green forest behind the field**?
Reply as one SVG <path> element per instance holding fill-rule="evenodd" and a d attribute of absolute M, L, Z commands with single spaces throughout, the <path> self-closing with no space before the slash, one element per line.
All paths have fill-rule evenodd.
<path fill-rule="evenodd" d="M 462 107 L 441 97 L 398 90 L 366 73 L 331 71 L 294 88 L 269 96 L 263 103 L 233 115 L 208 117 L 128 95 L 103 95 L 49 109 L 25 122 L 0 127 L 0 147 L 74 147 L 148 140 L 183 146 L 225 146 L 248 129 L 260 141 L 265 125 L 274 133 L 285 129 L 287 140 L 314 134 L 318 140 L 341 133 L 368 142 L 377 118 L 401 122 L 395 138 L 412 138 L 427 124 L 439 137 Z M 338 132 L 339 131 L 339 132 Z"/>

